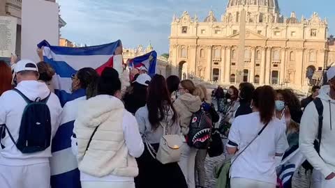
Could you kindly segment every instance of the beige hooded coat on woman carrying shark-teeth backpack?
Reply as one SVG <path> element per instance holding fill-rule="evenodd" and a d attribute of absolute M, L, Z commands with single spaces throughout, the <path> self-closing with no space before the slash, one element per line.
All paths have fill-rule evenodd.
<path fill-rule="evenodd" d="M 176 109 L 179 116 L 181 132 L 184 135 L 188 134 L 192 114 L 200 110 L 201 104 L 200 97 L 193 96 L 190 93 L 181 95 L 173 103 L 174 109 Z"/>

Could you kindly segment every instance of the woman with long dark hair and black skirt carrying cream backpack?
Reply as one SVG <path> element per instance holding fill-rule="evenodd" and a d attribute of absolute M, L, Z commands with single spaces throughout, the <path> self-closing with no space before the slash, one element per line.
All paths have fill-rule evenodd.
<path fill-rule="evenodd" d="M 136 187 L 187 188 L 186 180 L 177 162 L 161 164 L 151 155 L 158 151 L 161 138 L 165 134 L 164 128 L 168 134 L 180 134 L 177 112 L 172 105 L 170 93 L 162 75 L 155 75 L 152 78 L 148 88 L 147 105 L 138 109 L 135 117 L 143 141 L 148 143 L 143 155 L 137 159 L 140 174 L 135 180 Z"/>

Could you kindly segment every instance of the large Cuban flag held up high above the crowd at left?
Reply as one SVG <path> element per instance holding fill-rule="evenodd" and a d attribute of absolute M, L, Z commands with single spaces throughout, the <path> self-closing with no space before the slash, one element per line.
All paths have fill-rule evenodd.
<path fill-rule="evenodd" d="M 94 68 L 99 74 L 105 67 L 113 67 L 118 71 L 122 70 L 122 56 L 114 56 L 115 49 L 121 45 L 121 40 L 93 47 L 51 46 L 46 40 L 38 44 L 39 48 L 43 47 L 44 61 L 52 65 L 56 72 L 52 82 L 62 106 L 70 100 L 82 97 L 82 95 L 64 97 L 66 93 L 68 95 L 71 93 L 71 76 L 81 68 Z"/>

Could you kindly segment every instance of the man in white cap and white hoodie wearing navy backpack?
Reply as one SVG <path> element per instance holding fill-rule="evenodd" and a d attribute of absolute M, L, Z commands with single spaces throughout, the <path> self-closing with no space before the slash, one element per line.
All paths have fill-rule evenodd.
<path fill-rule="evenodd" d="M 14 71 L 17 87 L 0 97 L 0 187 L 50 187 L 51 140 L 59 126 L 61 104 L 45 83 L 37 81 L 36 63 L 21 60 Z M 37 107 L 34 102 L 41 106 Z M 29 107 L 44 110 L 25 110 Z M 27 130 L 35 131 L 28 133 Z M 30 139 L 31 135 L 34 139 Z M 22 138 L 26 139 L 23 145 Z M 41 142 L 36 143 L 41 140 L 45 141 L 43 147 L 40 147 Z"/>

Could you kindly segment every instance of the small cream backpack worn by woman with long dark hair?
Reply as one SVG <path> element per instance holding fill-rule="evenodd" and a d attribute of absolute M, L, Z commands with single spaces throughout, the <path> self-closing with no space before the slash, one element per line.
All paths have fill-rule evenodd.
<path fill-rule="evenodd" d="M 160 123 L 161 124 L 161 123 Z M 181 157 L 181 137 L 178 134 L 168 134 L 166 126 L 163 126 L 163 136 L 159 143 L 158 152 L 154 150 L 151 144 L 146 140 L 147 148 L 154 159 L 157 159 L 162 164 L 179 162 Z M 155 156 L 156 155 L 156 156 Z"/>

